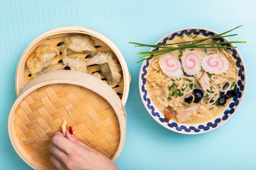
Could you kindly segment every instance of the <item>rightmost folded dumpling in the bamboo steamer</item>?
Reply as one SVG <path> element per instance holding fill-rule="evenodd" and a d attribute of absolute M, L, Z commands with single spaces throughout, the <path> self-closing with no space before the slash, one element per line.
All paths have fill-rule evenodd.
<path fill-rule="evenodd" d="M 102 74 L 112 88 L 117 86 L 122 76 L 122 68 L 111 52 L 98 51 L 87 61 L 88 66 L 92 64 L 99 64 Z"/>

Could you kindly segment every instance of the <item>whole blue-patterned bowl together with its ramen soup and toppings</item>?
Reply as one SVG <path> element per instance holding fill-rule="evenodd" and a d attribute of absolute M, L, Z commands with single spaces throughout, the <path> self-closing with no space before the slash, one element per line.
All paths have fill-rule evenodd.
<path fill-rule="evenodd" d="M 156 44 L 177 48 L 196 42 L 198 48 L 188 46 L 143 60 L 141 99 L 151 117 L 165 128 L 183 134 L 209 132 L 231 119 L 242 103 L 245 64 L 236 47 L 217 35 L 203 28 L 174 31 Z"/>

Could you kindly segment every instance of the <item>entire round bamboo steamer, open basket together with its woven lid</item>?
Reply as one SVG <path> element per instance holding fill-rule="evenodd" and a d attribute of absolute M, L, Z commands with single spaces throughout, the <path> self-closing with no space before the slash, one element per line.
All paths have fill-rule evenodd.
<path fill-rule="evenodd" d="M 65 36 L 72 34 L 88 35 L 97 51 L 112 52 L 122 68 L 122 77 L 117 86 L 111 88 L 106 82 L 90 75 L 100 71 L 99 65 L 88 66 L 88 74 L 60 70 L 31 77 L 26 66 L 29 55 L 41 44 L 52 45 L 61 52 Z M 87 54 L 77 56 L 89 60 Z M 55 57 L 52 64 L 60 60 L 61 55 Z M 104 80 L 104 75 L 100 75 Z M 52 135 L 62 131 L 61 124 L 66 120 L 67 127 L 72 127 L 78 139 L 116 161 L 125 141 L 124 105 L 129 85 L 126 61 L 117 46 L 105 35 L 81 26 L 66 26 L 43 33 L 29 44 L 17 65 L 17 99 L 8 119 L 13 148 L 32 168 L 52 169 L 49 144 Z"/>

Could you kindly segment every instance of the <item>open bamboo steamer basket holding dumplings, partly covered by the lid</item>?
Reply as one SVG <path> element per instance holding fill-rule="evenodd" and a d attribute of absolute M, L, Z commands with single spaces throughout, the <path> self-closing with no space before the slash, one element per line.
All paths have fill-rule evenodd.
<path fill-rule="evenodd" d="M 30 72 L 26 66 L 26 61 L 29 55 L 41 44 L 48 44 L 54 46 L 58 51 L 61 52 L 61 44 L 63 44 L 64 38 L 67 35 L 88 35 L 91 40 L 93 40 L 95 47 L 97 47 L 97 51 L 110 51 L 114 55 L 114 57 L 119 61 L 123 75 L 119 84 L 113 88 L 122 102 L 125 104 L 130 85 L 130 75 L 128 71 L 128 66 L 122 55 L 121 51 L 117 48 L 117 46 L 108 39 L 105 35 L 94 31 L 89 28 L 81 27 L 81 26 L 66 26 L 60 27 L 57 29 L 52 29 L 38 36 L 29 46 L 25 49 L 24 53 L 20 57 L 18 62 L 18 66 L 16 69 L 16 94 L 18 95 L 21 89 L 32 79 L 30 76 Z M 88 54 L 75 54 L 75 56 L 79 56 L 87 61 L 89 58 L 86 58 Z M 57 64 L 61 60 L 61 55 L 55 57 L 52 61 L 52 64 Z M 99 71 L 99 65 L 88 66 L 88 73 L 93 73 L 95 71 Z M 102 79 L 104 79 L 104 75 L 101 74 Z"/>

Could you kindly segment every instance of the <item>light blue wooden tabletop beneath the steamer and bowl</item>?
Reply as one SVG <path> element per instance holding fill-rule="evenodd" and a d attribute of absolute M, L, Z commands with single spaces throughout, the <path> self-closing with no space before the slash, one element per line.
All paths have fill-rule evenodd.
<path fill-rule="evenodd" d="M 61 26 L 85 26 L 112 40 L 123 53 L 132 81 L 126 103 L 120 170 L 256 170 L 256 1 L 255 0 L 2 0 L 0 3 L 0 170 L 31 169 L 9 140 L 7 121 L 16 99 L 15 72 L 26 47 L 40 34 Z M 236 30 L 247 70 L 247 90 L 236 114 L 200 135 L 182 135 L 155 122 L 138 88 L 141 64 L 129 44 L 154 44 L 167 33 L 202 27 Z"/>

